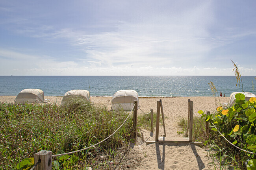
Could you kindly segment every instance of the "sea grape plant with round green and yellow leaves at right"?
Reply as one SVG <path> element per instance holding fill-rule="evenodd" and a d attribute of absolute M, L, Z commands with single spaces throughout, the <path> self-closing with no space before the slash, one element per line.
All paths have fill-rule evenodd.
<path fill-rule="evenodd" d="M 237 147 L 247 150 L 249 152 L 256 152 L 256 98 L 250 98 L 249 101 L 245 100 L 245 95 L 238 93 L 235 96 L 236 103 L 233 106 L 224 108 L 217 107 L 215 113 L 206 115 L 202 113 L 202 117 L 205 117 L 206 122 L 211 122 L 214 126 L 211 126 L 212 131 L 219 130 L 222 135 L 228 139 L 232 144 Z M 230 146 L 229 147 L 234 147 Z M 237 150 L 237 148 L 233 148 Z M 253 167 L 256 159 L 254 154 L 243 151 L 237 151 L 239 157 L 247 157 L 250 160 L 250 164 L 247 167 Z M 243 163 L 245 166 L 245 163 Z M 242 168 L 242 167 L 241 167 Z"/>

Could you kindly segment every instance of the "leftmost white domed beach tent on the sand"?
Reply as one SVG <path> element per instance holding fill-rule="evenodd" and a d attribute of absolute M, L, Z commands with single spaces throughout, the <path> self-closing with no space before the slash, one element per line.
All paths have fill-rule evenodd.
<path fill-rule="evenodd" d="M 43 103 L 44 92 L 40 89 L 24 89 L 15 98 L 15 103 Z"/>

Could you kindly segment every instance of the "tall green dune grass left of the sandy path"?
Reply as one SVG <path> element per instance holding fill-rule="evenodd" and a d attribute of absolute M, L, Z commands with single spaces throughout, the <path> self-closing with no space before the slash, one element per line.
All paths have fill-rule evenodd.
<path fill-rule="evenodd" d="M 63 107 L 0 103 L 0 169 L 16 169 L 22 159 L 33 157 L 41 150 L 50 150 L 56 155 L 60 150 L 71 152 L 91 146 L 111 135 L 127 116 L 126 112 L 108 111 L 105 106 L 95 107 L 81 100 Z M 115 166 L 109 162 L 122 159 L 126 149 L 121 148 L 128 146 L 132 124 L 130 116 L 113 137 L 89 150 L 70 155 L 61 167 L 108 169 Z"/>

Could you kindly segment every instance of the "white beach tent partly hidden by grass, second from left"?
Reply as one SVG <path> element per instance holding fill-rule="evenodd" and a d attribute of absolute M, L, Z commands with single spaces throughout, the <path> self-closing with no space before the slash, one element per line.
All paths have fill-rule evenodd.
<path fill-rule="evenodd" d="M 67 102 L 70 99 L 76 99 L 76 98 L 90 101 L 90 92 L 87 90 L 70 90 L 65 93 L 61 101 L 61 105 L 65 104 L 65 102 Z"/>

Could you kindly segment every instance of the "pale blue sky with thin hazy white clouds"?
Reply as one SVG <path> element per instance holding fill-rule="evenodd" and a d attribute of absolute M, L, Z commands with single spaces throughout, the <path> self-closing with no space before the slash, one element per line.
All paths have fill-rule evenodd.
<path fill-rule="evenodd" d="M 256 76 L 255 0 L 1 0 L 1 76 Z M 232 61 L 231 61 L 232 60 Z"/>

